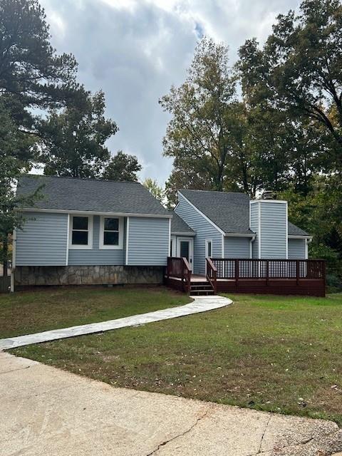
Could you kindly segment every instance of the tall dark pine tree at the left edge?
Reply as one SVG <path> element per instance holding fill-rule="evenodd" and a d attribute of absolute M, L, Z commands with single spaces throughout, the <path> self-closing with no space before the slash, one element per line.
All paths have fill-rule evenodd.
<path fill-rule="evenodd" d="M 66 106 L 84 110 L 89 102 L 76 81 L 75 58 L 58 55 L 50 38 L 37 0 L 0 1 L 0 236 L 5 263 L 9 233 L 24 223 L 17 209 L 25 201 L 14 188 L 21 173 L 38 162 L 41 115 Z"/>

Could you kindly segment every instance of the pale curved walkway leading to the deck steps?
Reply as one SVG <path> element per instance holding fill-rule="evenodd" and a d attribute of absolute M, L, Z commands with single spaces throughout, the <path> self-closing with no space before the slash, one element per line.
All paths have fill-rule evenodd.
<path fill-rule="evenodd" d="M 27 336 L 17 336 L 0 339 L 0 350 L 22 347 L 33 343 L 56 341 L 68 337 L 83 336 L 84 334 L 102 333 L 113 329 L 126 328 L 128 326 L 144 325 L 153 321 L 169 320 L 179 316 L 199 314 L 200 312 L 212 311 L 220 307 L 232 304 L 232 300 L 224 296 L 191 296 L 194 301 L 185 306 L 172 307 L 162 311 L 147 312 L 117 318 L 116 320 L 101 321 L 100 323 L 90 323 L 88 325 L 71 326 L 71 328 L 53 329 L 43 333 L 28 334 Z"/>

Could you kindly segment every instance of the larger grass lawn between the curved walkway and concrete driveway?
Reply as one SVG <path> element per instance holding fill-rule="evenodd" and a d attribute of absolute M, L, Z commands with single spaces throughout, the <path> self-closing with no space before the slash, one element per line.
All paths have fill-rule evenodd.
<path fill-rule="evenodd" d="M 342 425 L 342 295 L 230 297 L 205 314 L 11 353 L 110 385 Z"/>

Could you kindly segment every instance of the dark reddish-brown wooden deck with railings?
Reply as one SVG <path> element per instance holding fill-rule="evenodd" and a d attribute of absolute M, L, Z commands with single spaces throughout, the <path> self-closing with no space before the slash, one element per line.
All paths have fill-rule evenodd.
<path fill-rule="evenodd" d="M 170 259 L 165 284 L 188 294 L 210 284 L 214 293 L 326 296 L 323 260 L 209 259 L 207 276 L 191 274 L 182 260 L 172 268 Z"/>

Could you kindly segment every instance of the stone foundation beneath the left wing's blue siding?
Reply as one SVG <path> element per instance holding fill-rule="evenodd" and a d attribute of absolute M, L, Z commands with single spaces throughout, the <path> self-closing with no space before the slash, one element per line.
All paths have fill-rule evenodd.
<path fill-rule="evenodd" d="M 164 266 L 16 266 L 14 286 L 162 284 Z"/>

